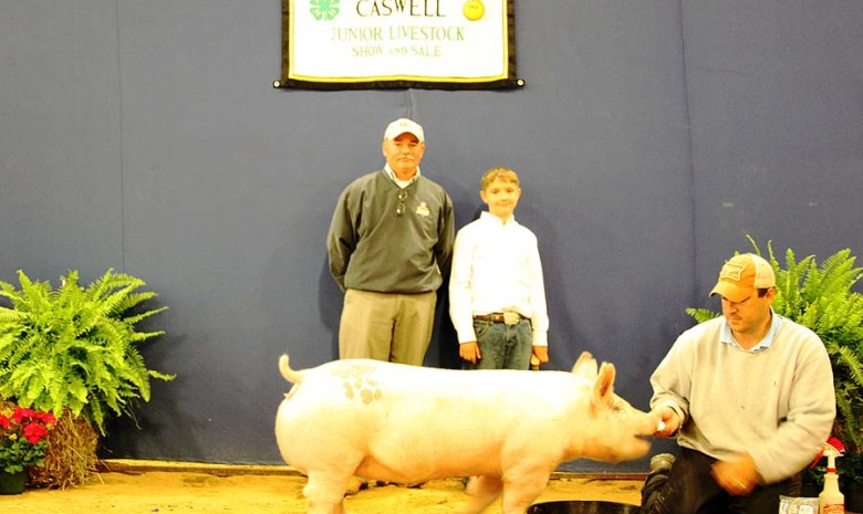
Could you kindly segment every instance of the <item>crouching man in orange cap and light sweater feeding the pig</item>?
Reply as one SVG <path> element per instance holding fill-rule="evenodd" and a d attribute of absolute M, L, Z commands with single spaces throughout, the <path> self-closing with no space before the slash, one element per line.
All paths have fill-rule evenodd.
<path fill-rule="evenodd" d="M 779 512 L 819 454 L 835 416 L 824 344 L 779 316 L 776 277 L 758 255 L 735 255 L 710 292 L 722 316 L 683 333 L 651 377 L 651 406 L 680 454 L 651 459 L 645 514 Z"/>

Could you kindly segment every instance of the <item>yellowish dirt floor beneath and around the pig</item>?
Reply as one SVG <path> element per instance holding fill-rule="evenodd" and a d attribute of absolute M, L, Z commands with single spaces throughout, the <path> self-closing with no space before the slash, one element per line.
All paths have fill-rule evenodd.
<path fill-rule="evenodd" d="M 626 479 L 555 474 L 537 502 L 602 500 L 637 504 L 642 481 Z M 0 507 L 29 514 L 301 514 L 306 507 L 304 485 L 305 479 L 287 466 L 144 466 L 113 462 L 84 485 L 65 491 L 28 489 L 20 495 L 0 496 Z M 349 496 L 345 505 L 349 514 L 435 514 L 458 512 L 466 500 L 459 480 L 441 480 L 419 489 L 371 487 Z M 500 506 L 487 513 L 500 514 Z"/>

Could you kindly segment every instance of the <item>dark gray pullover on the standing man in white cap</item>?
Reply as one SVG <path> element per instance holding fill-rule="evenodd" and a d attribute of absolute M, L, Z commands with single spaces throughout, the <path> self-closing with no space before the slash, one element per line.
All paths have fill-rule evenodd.
<path fill-rule="evenodd" d="M 454 237 L 453 200 L 443 187 L 419 176 L 403 191 L 386 171 L 374 171 L 339 198 L 326 238 L 330 272 L 342 291 L 436 291 Z"/>

